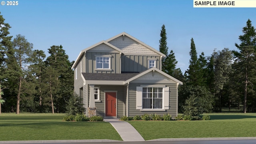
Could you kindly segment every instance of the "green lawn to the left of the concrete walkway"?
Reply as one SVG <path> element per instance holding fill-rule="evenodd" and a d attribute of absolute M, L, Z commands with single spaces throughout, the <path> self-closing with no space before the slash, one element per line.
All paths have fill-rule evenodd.
<path fill-rule="evenodd" d="M 0 115 L 0 140 L 122 140 L 108 122 L 63 122 L 65 114 Z"/>

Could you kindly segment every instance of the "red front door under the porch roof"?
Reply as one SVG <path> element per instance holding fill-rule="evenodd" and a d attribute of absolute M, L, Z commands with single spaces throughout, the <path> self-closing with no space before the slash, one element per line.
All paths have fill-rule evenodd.
<path fill-rule="evenodd" d="M 106 116 L 116 116 L 116 92 L 106 92 Z"/>

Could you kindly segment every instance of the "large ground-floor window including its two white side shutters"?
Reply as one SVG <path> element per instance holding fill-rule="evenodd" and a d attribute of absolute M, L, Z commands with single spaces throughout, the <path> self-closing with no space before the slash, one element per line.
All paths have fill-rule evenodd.
<path fill-rule="evenodd" d="M 140 111 L 169 110 L 169 87 L 148 85 L 136 87 L 136 109 Z"/>

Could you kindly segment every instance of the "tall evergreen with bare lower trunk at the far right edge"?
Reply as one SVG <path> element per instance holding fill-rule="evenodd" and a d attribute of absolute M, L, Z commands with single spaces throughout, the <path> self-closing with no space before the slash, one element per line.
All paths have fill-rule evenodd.
<path fill-rule="evenodd" d="M 237 63 L 237 74 L 242 77 L 242 79 L 239 79 L 238 81 L 241 80 L 244 83 L 243 112 L 246 113 L 248 84 L 253 85 L 256 72 L 256 31 L 249 19 L 246 22 L 246 26 L 243 28 L 242 32 L 243 35 L 239 36 L 241 43 L 235 44 L 240 51 L 233 51 L 233 53 L 236 58 L 235 63 Z"/>

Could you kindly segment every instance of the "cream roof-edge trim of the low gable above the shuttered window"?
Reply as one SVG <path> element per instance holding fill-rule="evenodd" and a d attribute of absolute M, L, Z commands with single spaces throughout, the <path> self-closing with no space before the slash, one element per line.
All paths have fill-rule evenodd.
<path fill-rule="evenodd" d="M 176 78 L 170 76 L 169 74 L 166 74 L 166 73 L 163 72 L 162 70 L 159 70 L 159 69 L 157 69 L 157 68 L 155 68 L 155 67 L 150 68 L 150 69 L 148 69 L 148 70 L 145 70 L 145 71 L 143 71 L 143 72 L 140 72 L 139 74 L 135 75 L 134 77 L 132 77 L 132 78 L 130 78 L 130 79 L 124 81 L 124 83 L 126 84 L 126 83 L 128 83 L 128 82 L 131 82 L 132 80 L 135 80 L 135 79 L 139 78 L 140 76 L 143 76 L 144 74 L 147 74 L 147 73 L 152 72 L 152 71 L 153 71 L 153 72 L 154 72 L 154 71 L 159 72 L 160 74 L 166 76 L 167 78 L 170 78 L 171 80 L 173 80 L 174 82 L 176 82 L 176 83 L 178 83 L 178 84 L 180 84 L 180 85 L 183 84 L 183 82 L 181 82 L 180 80 L 177 80 Z"/>

